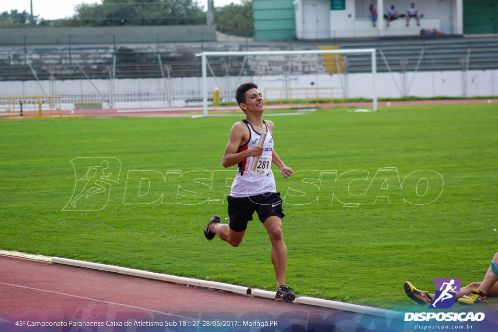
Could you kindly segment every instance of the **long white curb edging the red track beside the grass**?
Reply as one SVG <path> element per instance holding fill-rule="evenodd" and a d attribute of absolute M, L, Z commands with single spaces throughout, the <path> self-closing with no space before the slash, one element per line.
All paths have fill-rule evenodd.
<path fill-rule="evenodd" d="M 107 271 L 107 272 L 126 274 L 126 275 L 130 275 L 130 276 L 147 278 L 147 279 L 154 279 L 154 280 L 161 280 L 161 281 L 166 281 L 166 282 L 171 282 L 171 283 L 181 284 L 181 285 L 213 288 L 213 289 L 224 290 L 227 292 L 233 292 L 233 293 L 244 294 L 244 295 L 252 295 L 252 296 L 262 297 L 262 298 L 267 298 L 267 299 L 272 299 L 272 300 L 275 298 L 275 292 L 264 291 L 261 289 L 251 289 L 251 288 L 237 286 L 237 285 L 225 284 L 222 282 L 192 279 L 192 278 L 185 278 L 185 277 L 177 277 L 177 276 L 168 275 L 168 274 L 147 272 L 147 271 L 129 269 L 126 267 L 119 267 L 119 266 L 114 266 L 114 265 L 85 262 L 85 261 L 81 261 L 81 260 L 67 259 L 67 258 L 61 258 L 61 257 L 48 257 L 48 256 L 43 256 L 43 255 L 31 255 L 31 254 L 25 254 L 23 252 L 18 252 L 18 251 L 0 250 L 0 255 L 15 256 L 15 257 L 28 258 L 28 259 L 33 259 L 33 260 L 40 260 L 40 261 L 49 261 L 49 262 L 56 263 L 56 264 L 64 264 L 64 265 L 78 266 L 78 267 L 84 267 L 84 268 L 89 268 L 89 269 L 94 269 L 94 270 L 101 270 L 101 271 Z M 384 318 L 389 318 L 389 319 L 401 317 L 401 315 L 402 315 L 402 313 L 400 313 L 400 312 L 391 311 L 391 310 L 378 309 L 378 308 L 372 308 L 372 307 L 366 307 L 366 306 L 359 306 L 356 304 L 350 304 L 350 303 L 344 303 L 344 302 L 338 302 L 338 301 L 315 299 L 315 298 L 310 298 L 310 297 L 306 297 L 306 296 L 298 297 L 295 302 L 300 303 L 300 304 L 305 304 L 305 305 L 331 308 L 331 309 L 354 312 L 354 313 L 359 313 L 359 314 L 379 316 L 379 317 L 384 317 Z"/>

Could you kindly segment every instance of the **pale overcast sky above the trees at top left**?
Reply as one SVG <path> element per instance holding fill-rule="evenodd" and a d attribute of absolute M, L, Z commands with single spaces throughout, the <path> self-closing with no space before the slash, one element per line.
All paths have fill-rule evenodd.
<path fill-rule="evenodd" d="M 102 1 L 91 0 L 33 0 L 33 15 L 40 15 L 39 17 L 44 19 L 70 17 L 74 14 L 75 5 L 95 2 L 102 3 Z M 240 0 L 215 0 L 215 6 L 224 6 L 231 2 L 241 3 Z M 30 0 L 0 0 L 0 12 L 17 9 L 18 11 L 26 10 L 29 13 L 29 3 Z M 207 6 L 207 0 L 199 0 L 198 3 L 204 4 L 204 7 Z"/>

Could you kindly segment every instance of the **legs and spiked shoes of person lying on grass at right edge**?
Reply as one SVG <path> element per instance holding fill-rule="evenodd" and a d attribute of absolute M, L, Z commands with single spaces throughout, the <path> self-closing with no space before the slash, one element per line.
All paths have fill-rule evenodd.
<path fill-rule="evenodd" d="M 491 266 L 482 282 L 473 282 L 462 287 L 455 293 L 455 301 L 462 305 L 473 305 L 486 302 L 486 297 L 498 297 L 498 252 L 493 257 Z M 434 294 L 416 289 L 409 281 L 404 283 L 406 295 L 419 304 L 429 304 L 434 301 Z M 450 291 L 451 292 L 451 291 Z"/>

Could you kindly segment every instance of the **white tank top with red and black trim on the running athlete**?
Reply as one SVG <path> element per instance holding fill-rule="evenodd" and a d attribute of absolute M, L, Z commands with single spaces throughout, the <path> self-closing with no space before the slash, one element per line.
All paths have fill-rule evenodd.
<path fill-rule="evenodd" d="M 246 119 L 242 120 L 246 123 L 249 128 L 249 141 L 239 146 L 237 152 L 242 152 L 249 150 L 253 146 L 257 145 L 259 138 L 261 138 L 261 133 L 254 130 L 252 125 Z M 266 126 L 266 138 L 263 143 L 264 151 L 263 156 L 271 156 L 273 151 L 273 136 L 270 133 L 268 125 L 263 120 Z M 271 171 L 267 175 L 250 175 L 247 172 L 249 168 L 249 162 L 251 157 L 247 157 L 239 164 L 237 164 L 237 174 L 235 176 L 234 182 L 232 183 L 232 189 L 230 190 L 230 196 L 232 197 L 249 197 L 260 195 L 263 193 L 276 193 L 275 178 L 273 177 L 273 172 Z M 270 166 L 271 167 L 271 166 Z"/>

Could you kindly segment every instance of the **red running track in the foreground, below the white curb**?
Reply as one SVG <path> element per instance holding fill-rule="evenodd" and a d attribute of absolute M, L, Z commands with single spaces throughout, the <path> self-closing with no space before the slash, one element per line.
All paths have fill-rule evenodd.
<path fill-rule="evenodd" d="M 355 317 L 353 313 L 293 303 L 278 303 L 269 299 L 49 262 L 0 255 L 0 266 L 1 332 L 25 331 L 26 323 L 23 326 L 14 324 L 28 321 L 103 324 L 108 321 L 122 323 L 168 321 L 181 324 L 184 321 L 186 324 L 202 325 L 205 321 L 290 322 L 293 318 L 303 322 L 339 320 L 355 323 L 352 321 Z M 195 321 L 201 323 L 192 323 Z M 198 331 L 200 328 L 197 327 L 196 330 L 187 326 L 182 331 Z M 48 328 L 30 330 L 76 332 L 70 327 L 46 329 Z M 85 329 L 92 331 L 89 327 Z M 99 329 L 127 331 L 105 326 Z M 160 331 L 164 329 L 163 327 Z M 220 327 L 215 330 L 230 329 L 223 330 Z"/>

